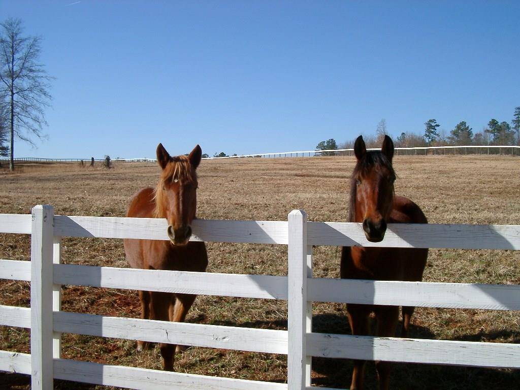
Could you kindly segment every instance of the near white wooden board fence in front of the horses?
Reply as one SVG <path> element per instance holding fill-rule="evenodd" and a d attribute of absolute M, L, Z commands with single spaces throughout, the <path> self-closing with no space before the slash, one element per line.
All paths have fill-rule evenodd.
<path fill-rule="evenodd" d="M 309 389 L 312 356 L 520 368 L 520 344 L 313 333 L 312 302 L 520 310 L 520 286 L 312 277 L 313 245 L 520 249 L 520 225 L 390 224 L 381 243 L 360 224 L 195 220 L 192 240 L 288 245 L 288 276 L 211 274 L 59 264 L 61 237 L 167 240 L 153 218 L 0 214 L 0 232 L 31 234 L 31 262 L 0 260 L 0 279 L 31 282 L 31 307 L 0 306 L 0 325 L 31 329 L 31 354 L 0 351 L 0 370 L 31 375 L 32 389 L 64 379 L 144 390 Z M 288 331 L 118 318 L 60 311 L 62 284 L 288 301 Z M 62 359 L 60 333 L 288 355 L 285 383 L 246 381 Z"/>

